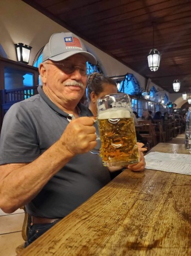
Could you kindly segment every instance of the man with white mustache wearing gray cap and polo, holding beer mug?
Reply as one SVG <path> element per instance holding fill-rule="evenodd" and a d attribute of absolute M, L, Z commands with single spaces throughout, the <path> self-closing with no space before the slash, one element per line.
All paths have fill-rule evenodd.
<path fill-rule="evenodd" d="M 32 216 L 26 246 L 107 184 L 98 155 L 92 113 L 79 103 L 86 90 L 86 61 L 96 64 L 72 33 L 50 37 L 36 96 L 13 105 L 2 126 L 0 207 L 26 205 Z M 129 169 L 142 171 L 145 160 Z"/>

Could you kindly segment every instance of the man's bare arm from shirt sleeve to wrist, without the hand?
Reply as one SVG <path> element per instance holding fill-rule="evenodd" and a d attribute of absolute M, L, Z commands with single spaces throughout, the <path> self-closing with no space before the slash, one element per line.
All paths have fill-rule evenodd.
<path fill-rule="evenodd" d="M 72 158 L 58 141 L 32 163 L 0 166 L 0 208 L 11 213 L 31 201 Z"/>

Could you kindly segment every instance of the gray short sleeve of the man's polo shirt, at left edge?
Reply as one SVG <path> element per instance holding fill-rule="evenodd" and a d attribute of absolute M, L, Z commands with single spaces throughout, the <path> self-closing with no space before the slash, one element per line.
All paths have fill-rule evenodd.
<path fill-rule="evenodd" d="M 11 106 L 3 120 L 0 164 L 28 163 L 40 155 L 31 113 L 20 102 Z"/>

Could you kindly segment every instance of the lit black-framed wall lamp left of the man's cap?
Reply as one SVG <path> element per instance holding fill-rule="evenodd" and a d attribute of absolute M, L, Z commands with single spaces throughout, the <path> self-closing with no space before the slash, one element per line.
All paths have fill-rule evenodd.
<path fill-rule="evenodd" d="M 27 46 L 23 43 L 15 44 L 16 56 L 20 63 L 28 64 L 31 53 L 31 46 Z"/>

